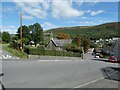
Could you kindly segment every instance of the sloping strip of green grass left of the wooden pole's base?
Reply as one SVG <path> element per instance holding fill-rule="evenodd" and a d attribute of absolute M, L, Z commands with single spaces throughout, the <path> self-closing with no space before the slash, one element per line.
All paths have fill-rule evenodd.
<path fill-rule="evenodd" d="M 12 49 L 10 47 L 8 47 L 9 44 L 3 44 L 3 49 L 9 53 L 11 53 L 13 56 L 17 56 L 19 58 L 23 58 L 23 59 L 26 59 L 27 58 L 27 54 L 23 51 L 19 51 L 19 50 L 16 50 L 16 49 Z"/>

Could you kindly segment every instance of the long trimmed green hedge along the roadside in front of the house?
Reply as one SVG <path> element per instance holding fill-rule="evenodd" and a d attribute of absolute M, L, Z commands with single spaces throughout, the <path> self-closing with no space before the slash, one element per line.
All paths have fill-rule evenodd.
<path fill-rule="evenodd" d="M 24 52 L 29 55 L 46 55 L 46 56 L 71 56 L 71 57 L 80 57 L 80 53 L 73 53 L 68 51 L 56 51 L 56 50 L 45 50 L 43 47 L 38 48 L 24 48 Z"/>

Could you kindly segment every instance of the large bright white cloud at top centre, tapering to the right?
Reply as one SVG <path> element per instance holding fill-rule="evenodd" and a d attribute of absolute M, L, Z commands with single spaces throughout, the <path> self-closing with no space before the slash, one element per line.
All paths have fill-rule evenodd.
<path fill-rule="evenodd" d="M 82 16 L 84 14 L 83 11 L 79 11 L 74 9 L 70 2 L 60 0 L 54 0 L 52 2 L 52 16 L 54 18 L 72 18 Z"/>

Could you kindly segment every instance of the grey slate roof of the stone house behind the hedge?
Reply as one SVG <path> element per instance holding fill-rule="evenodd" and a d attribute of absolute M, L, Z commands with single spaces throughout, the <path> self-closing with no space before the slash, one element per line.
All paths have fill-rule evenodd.
<path fill-rule="evenodd" d="M 63 47 L 67 44 L 70 44 L 72 42 L 71 39 L 51 39 L 51 41 L 55 44 L 57 47 Z"/>

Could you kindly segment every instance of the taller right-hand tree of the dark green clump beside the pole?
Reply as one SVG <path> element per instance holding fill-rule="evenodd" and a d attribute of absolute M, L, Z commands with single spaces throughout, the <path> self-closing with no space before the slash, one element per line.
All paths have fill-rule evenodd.
<path fill-rule="evenodd" d="M 29 28 L 32 30 L 31 35 L 32 40 L 35 42 L 35 46 L 36 44 L 42 44 L 44 40 L 43 40 L 43 28 L 41 27 L 41 25 L 39 23 L 35 23 L 31 25 Z"/>

